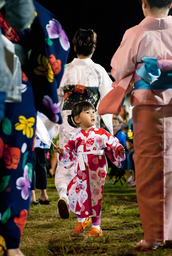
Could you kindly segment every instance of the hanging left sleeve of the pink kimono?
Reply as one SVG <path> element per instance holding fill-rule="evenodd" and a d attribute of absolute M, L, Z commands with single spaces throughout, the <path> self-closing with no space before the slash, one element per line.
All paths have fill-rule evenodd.
<path fill-rule="evenodd" d="M 99 104 L 99 115 L 119 114 L 122 99 L 133 89 L 130 83 L 136 69 L 137 42 L 138 38 L 133 28 L 128 29 L 111 60 L 111 75 L 115 78 L 115 82 L 112 84 L 113 89 Z"/>

